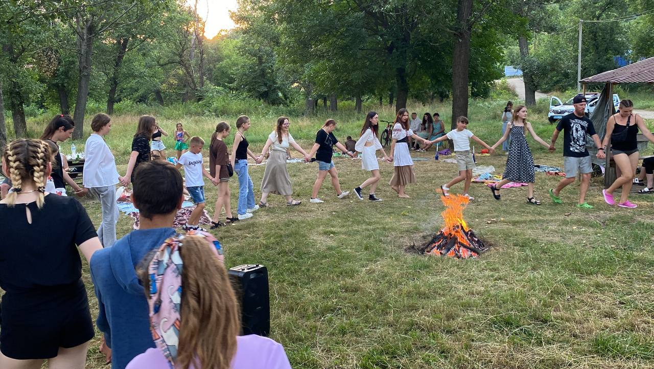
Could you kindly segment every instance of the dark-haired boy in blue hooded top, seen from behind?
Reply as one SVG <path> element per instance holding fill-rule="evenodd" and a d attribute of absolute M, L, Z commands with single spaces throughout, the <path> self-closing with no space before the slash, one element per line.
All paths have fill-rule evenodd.
<path fill-rule="evenodd" d="M 182 176 L 175 167 L 144 162 L 137 172 L 131 199 L 139 209 L 139 229 L 97 251 L 90 262 L 99 308 L 96 323 L 106 342 L 101 351 L 113 369 L 125 368 L 136 355 L 154 347 L 148 302 L 136 268 L 144 256 L 176 234 L 173 221 L 184 201 Z"/>

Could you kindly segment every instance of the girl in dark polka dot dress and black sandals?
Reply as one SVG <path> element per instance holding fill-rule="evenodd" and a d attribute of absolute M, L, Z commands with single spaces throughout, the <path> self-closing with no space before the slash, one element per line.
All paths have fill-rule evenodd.
<path fill-rule="evenodd" d="M 492 145 L 494 150 L 504 141 L 511 138 L 509 146 L 509 156 L 506 159 L 506 169 L 502 175 L 502 181 L 490 186 L 492 196 L 495 200 L 500 200 L 500 188 L 509 182 L 527 183 L 527 202 L 533 205 L 540 205 L 540 201 L 534 198 L 534 157 L 532 156 L 529 144 L 525 137 L 526 132 L 529 132 L 536 142 L 549 149 L 549 144 L 543 141 L 532 128 L 531 123 L 526 121 L 527 108 L 520 105 L 513 111 L 513 118 L 509 123 L 510 129 L 504 132 L 500 141 Z"/>

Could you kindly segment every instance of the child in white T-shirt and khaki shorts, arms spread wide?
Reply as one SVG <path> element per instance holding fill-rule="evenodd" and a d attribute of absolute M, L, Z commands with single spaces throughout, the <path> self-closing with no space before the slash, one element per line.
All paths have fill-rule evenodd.
<path fill-rule="evenodd" d="M 468 129 L 468 118 L 465 116 L 459 116 L 456 119 L 456 130 L 451 130 L 447 132 L 446 135 L 438 137 L 432 143 L 437 143 L 440 141 L 445 141 L 446 139 L 451 139 L 454 143 L 454 153 L 456 156 L 456 165 L 458 166 L 458 177 L 449 181 L 446 185 L 441 186 L 443 191 L 443 196 L 449 196 L 449 188 L 456 185 L 460 181 L 466 181 L 463 192 L 466 198 L 470 200 L 475 200 L 472 196 L 468 194 L 470 190 L 470 183 L 472 182 L 472 169 L 475 167 L 475 162 L 472 159 L 472 152 L 470 152 L 470 139 L 477 141 L 480 145 L 489 149 L 490 152 L 494 152 L 487 143 L 481 141 L 479 137 L 475 136 Z"/>

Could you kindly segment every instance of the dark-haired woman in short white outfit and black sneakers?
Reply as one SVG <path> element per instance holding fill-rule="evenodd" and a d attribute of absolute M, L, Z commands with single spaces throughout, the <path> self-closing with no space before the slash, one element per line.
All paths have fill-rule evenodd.
<path fill-rule="evenodd" d="M 381 147 L 379 143 L 379 138 L 377 138 L 377 130 L 379 126 L 379 115 L 374 111 L 371 111 L 366 115 L 366 122 L 364 122 L 364 127 L 361 130 L 361 137 L 356 141 L 354 149 L 358 152 L 361 152 L 361 169 L 371 171 L 372 177 L 366 179 L 364 183 L 360 186 L 354 188 L 354 194 L 359 200 L 364 200 L 364 197 L 361 194 L 362 188 L 370 185 L 370 194 L 368 195 L 368 200 L 370 201 L 381 201 L 380 198 L 375 196 L 375 190 L 377 189 L 377 182 L 381 179 L 379 174 L 379 162 L 377 162 L 377 150 L 381 150 L 384 154 L 384 159 L 387 162 L 390 162 L 390 158 L 386 156 L 386 151 Z"/>

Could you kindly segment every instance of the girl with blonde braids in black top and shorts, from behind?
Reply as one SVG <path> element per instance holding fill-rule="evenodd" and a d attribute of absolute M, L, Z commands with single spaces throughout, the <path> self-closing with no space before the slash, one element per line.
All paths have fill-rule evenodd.
<path fill-rule="evenodd" d="M 84 207 L 45 191 L 48 143 L 17 139 L 3 153 L 13 188 L 0 201 L 0 368 L 84 368 L 94 328 L 82 262 L 101 249 Z M 56 219 L 56 221 L 54 221 Z M 44 237 L 47 235 L 48 237 Z"/>

